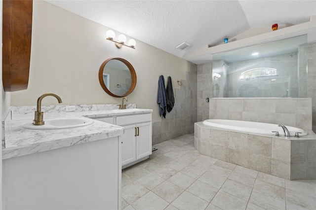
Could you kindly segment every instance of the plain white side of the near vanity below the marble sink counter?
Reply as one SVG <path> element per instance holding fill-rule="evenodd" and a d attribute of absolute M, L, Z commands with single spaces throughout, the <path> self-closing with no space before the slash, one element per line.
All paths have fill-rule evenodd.
<path fill-rule="evenodd" d="M 118 137 L 2 160 L 3 210 L 120 210 Z"/>

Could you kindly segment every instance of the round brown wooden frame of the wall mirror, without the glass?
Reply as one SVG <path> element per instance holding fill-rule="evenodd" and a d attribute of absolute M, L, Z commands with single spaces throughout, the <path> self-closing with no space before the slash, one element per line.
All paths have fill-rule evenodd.
<path fill-rule="evenodd" d="M 128 90 L 124 95 L 122 95 L 122 96 L 118 96 L 118 95 L 113 94 L 113 93 L 107 88 L 107 86 L 105 86 L 105 83 L 104 83 L 104 80 L 103 80 L 103 70 L 104 70 L 104 67 L 105 67 L 105 65 L 106 65 L 109 61 L 111 61 L 111 60 L 118 60 L 118 61 L 123 62 L 123 63 L 127 66 L 127 68 L 129 69 L 130 74 L 131 74 L 131 77 L 132 77 L 132 84 L 131 84 L 129 90 Z M 101 87 L 103 88 L 103 90 L 104 90 L 107 94 L 109 94 L 110 96 L 116 97 L 116 98 L 125 97 L 125 96 L 129 95 L 131 92 L 133 92 L 133 90 L 134 90 L 134 88 L 135 88 L 135 86 L 136 86 L 136 80 L 137 80 L 137 78 L 136 78 L 136 72 L 135 72 L 133 66 L 132 66 L 128 61 L 126 61 L 126 60 L 123 59 L 123 58 L 109 58 L 109 59 L 105 60 L 105 62 L 102 63 L 102 65 L 101 65 L 101 67 L 100 67 L 100 70 L 99 70 L 99 82 L 100 82 Z"/>

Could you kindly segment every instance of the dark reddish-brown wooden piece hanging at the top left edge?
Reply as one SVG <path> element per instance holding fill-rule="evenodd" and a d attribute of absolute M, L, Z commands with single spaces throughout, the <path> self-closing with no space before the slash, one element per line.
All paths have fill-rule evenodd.
<path fill-rule="evenodd" d="M 3 0 L 2 82 L 6 92 L 28 88 L 33 0 Z"/>

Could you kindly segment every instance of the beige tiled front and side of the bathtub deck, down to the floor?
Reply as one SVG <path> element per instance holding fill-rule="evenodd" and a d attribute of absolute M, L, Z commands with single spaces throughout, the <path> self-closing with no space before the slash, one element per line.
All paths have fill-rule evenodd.
<path fill-rule="evenodd" d="M 257 136 L 195 123 L 200 154 L 282 178 L 316 179 L 316 135 L 287 138 Z"/>

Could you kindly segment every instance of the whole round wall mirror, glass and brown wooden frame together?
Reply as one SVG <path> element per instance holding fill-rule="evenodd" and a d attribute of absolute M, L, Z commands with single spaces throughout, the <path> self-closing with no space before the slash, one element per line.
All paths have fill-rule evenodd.
<path fill-rule="evenodd" d="M 110 96 L 124 97 L 133 92 L 136 86 L 136 72 L 125 59 L 109 58 L 100 67 L 99 82 Z"/>

